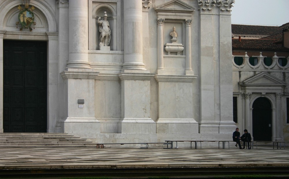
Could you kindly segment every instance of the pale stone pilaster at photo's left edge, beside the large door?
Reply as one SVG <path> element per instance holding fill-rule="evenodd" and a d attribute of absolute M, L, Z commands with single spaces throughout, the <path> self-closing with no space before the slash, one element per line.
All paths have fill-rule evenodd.
<path fill-rule="evenodd" d="M 0 50 L 3 52 L 3 36 L 6 31 L 0 30 Z M 3 133 L 3 53 L 0 53 L 0 133 Z"/>

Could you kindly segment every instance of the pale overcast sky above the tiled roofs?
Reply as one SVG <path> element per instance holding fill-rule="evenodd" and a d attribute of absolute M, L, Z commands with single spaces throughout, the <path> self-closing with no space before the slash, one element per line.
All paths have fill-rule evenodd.
<path fill-rule="evenodd" d="M 289 22 L 289 0 L 235 0 L 231 23 L 281 26 Z"/>

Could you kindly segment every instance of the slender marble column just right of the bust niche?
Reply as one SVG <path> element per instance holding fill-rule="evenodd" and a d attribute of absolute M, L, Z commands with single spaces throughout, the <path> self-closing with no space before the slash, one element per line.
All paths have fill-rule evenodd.
<path fill-rule="evenodd" d="M 192 20 L 185 20 L 186 25 L 186 75 L 193 75 L 194 72 L 192 70 L 192 50 L 191 50 L 191 24 Z"/>

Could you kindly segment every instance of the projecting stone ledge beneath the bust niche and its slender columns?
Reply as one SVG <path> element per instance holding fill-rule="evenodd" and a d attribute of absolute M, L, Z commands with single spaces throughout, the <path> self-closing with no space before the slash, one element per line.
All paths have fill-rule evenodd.
<path fill-rule="evenodd" d="M 179 83 L 192 83 L 197 79 L 197 76 L 188 75 L 155 75 L 157 82 L 179 82 Z"/>

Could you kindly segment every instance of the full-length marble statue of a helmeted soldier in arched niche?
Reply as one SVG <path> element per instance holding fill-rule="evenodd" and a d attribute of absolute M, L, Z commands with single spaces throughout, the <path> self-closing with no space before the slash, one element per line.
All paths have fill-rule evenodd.
<path fill-rule="evenodd" d="M 99 46 L 108 46 L 110 42 L 110 25 L 106 20 L 107 17 L 108 15 L 106 14 L 106 12 L 104 12 L 104 19 L 101 19 L 101 17 L 97 19 L 98 29 L 100 32 Z"/>

